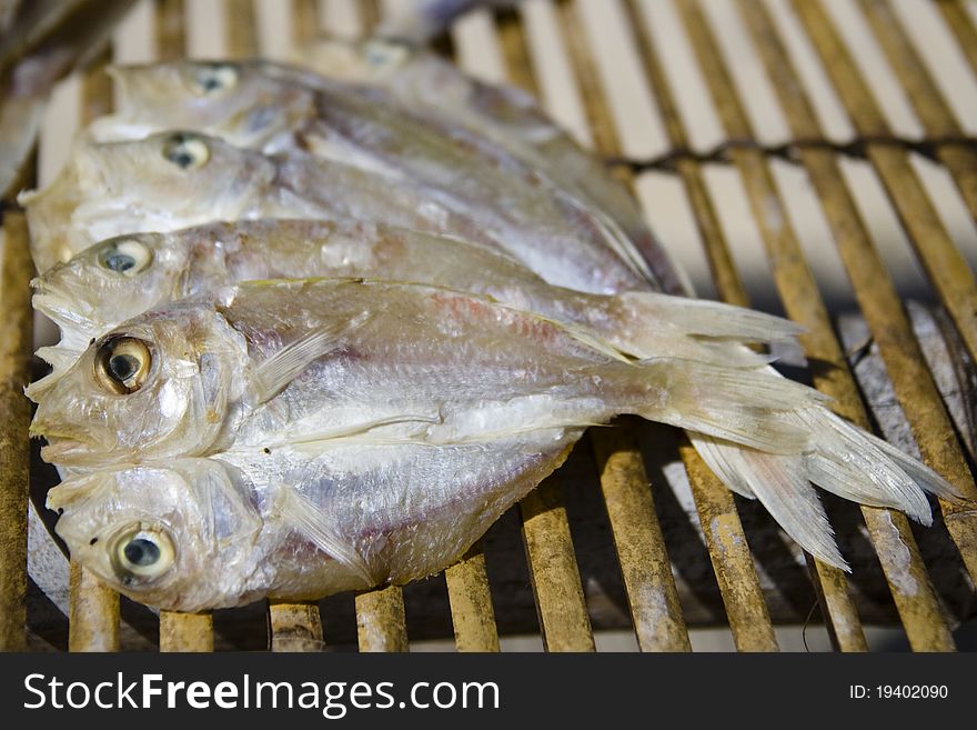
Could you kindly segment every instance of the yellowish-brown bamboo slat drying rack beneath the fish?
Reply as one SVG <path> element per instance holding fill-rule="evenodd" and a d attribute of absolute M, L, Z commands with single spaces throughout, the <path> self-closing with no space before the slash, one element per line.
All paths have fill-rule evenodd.
<path fill-rule="evenodd" d="M 251 0 L 223 0 L 226 9 L 226 47 L 230 57 L 258 52 L 255 11 Z M 834 399 L 837 411 L 863 427 L 870 427 L 859 387 L 845 350 L 822 299 L 818 284 L 792 229 L 785 203 L 775 183 L 770 157 L 774 150 L 755 142 L 756 130 L 737 93 L 729 69 L 696 0 L 675 0 L 674 7 L 691 41 L 695 60 L 718 110 L 727 143 L 709 156 L 691 150 L 688 132 L 676 104 L 659 50 L 647 32 L 636 0 L 621 2 L 645 80 L 657 103 L 671 152 L 657 168 L 667 168 L 681 180 L 695 214 L 699 237 L 723 300 L 748 306 L 746 288 L 729 252 L 717 217 L 715 200 L 704 177 L 707 163 L 732 164 L 745 186 L 751 212 L 758 227 L 777 292 L 788 317 L 807 328 L 802 344 L 814 369 L 814 384 Z M 896 21 L 887 0 L 852 0 L 867 19 L 888 62 L 923 122 L 925 148 L 944 166 L 956 183 L 969 213 L 977 218 L 977 147 L 954 119 L 951 110 L 929 77 L 923 60 Z M 934 0 L 935 1 L 935 0 Z M 292 0 L 296 42 L 305 41 L 319 27 L 315 0 Z M 823 207 L 834 242 L 854 288 L 862 316 L 877 346 L 892 387 L 924 460 L 943 473 L 968 499 L 941 502 L 946 540 L 958 554 L 969 590 L 977 582 L 977 489 L 968 457 L 893 280 L 876 250 L 869 231 L 845 184 L 839 183 L 839 159 L 856 153 L 867 159 L 880 178 L 899 221 L 911 240 L 926 277 L 965 343 L 966 354 L 977 360 L 977 284 L 966 260 L 928 198 L 910 164 L 920 143 L 898 140 L 874 101 L 868 82 L 842 42 L 822 0 L 788 0 L 808 39 L 827 70 L 847 114 L 857 130 L 854 144 L 826 141 L 817 116 L 800 83 L 785 41 L 778 34 L 762 0 L 729 0 L 746 24 L 763 68 L 775 89 L 792 134 L 778 156 L 787 154 L 807 174 Z M 957 0 L 936 2 L 947 27 L 958 40 L 970 67 L 977 71 L 977 31 Z M 375 0 L 357 3 L 363 27 L 379 19 Z M 557 27 L 567 49 L 573 76 L 584 101 L 586 122 L 596 151 L 622 157 L 620 124 L 595 71 L 582 18 L 574 0 L 553 2 Z M 161 59 L 185 53 L 184 7 L 181 0 L 158 0 L 155 20 Z M 495 32 L 511 82 L 538 92 L 525 29 L 517 13 L 495 18 Z M 111 99 L 102 63 L 83 73 L 81 117 L 88 121 L 108 111 Z M 625 177 L 631 177 L 623 169 Z M 27 282 L 32 264 L 27 253 L 23 216 L 12 206 L 4 209 L 6 246 L 2 260 L 0 311 L 6 314 L 0 340 L 0 648 L 26 644 L 24 596 L 27 577 L 27 502 L 30 449 L 27 424 L 30 407 L 21 394 L 30 379 L 31 313 Z M 634 423 L 592 430 L 576 447 L 588 450 L 587 486 L 597 491 L 606 508 L 610 539 L 626 596 L 626 612 L 642 650 L 691 648 L 683 602 L 666 550 L 655 496 L 649 488 L 646 459 Z M 767 597 L 757 574 L 754 556 L 741 520 L 743 503 L 707 470 L 684 439 L 678 453 L 688 476 L 702 534 L 714 571 L 722 608 L 738 650 L 777 650 Z M 596 467 L 594 472 L 593 467 Z M 580 471 L 580 470 L 577 470 Z M 564 470 L 547 479 L 518 507 L 528 578 L 543 644 L 551 651 L 593 651 L 594 631 L 588 598 L 574 549 L 567 517 Z M 659 507 L 661 509 L 661 507 Z M 860 510 L 867 536 L 875 548 L 889 600 L 914 650 L 951 650 L 950 618 L 927 572 L 916 538 L 905 517 L 887 510 Z M 606 537 L 606 536 L 605 536 Z M 672 551 L 674 544 L 669 544 Z M 842 651 L 868 648 L 863 620 L 853 599 L 849 577 L 807 557 L 809 581 L 820 606 L 833 644 Z M 500 647 L 493 592 L 481 542 L 444 573 L 451 626 L 459 650 L 497 651 Z M 498 606 L 496 603 L 496 610 Z M 403 651 L 409 648 L 403 591 L 397 587 L 355 597 L 357 644 L 361 651 Z M 233 614 L 231 614 L 233 616 Z M 271 603 L 268 610 L 268 644 L 278 650 L 318 650 L 324 646 L 316 604 Z M 966 617 L 963 617 L 966 618 Z M 68 647 L 73 651 L 120 648 L 120 599 L 101 587 L 87 571 L 70 569 Z M 159 648 L 163 651 L 210 651 L 214 623 L 210 613 L 161 612 Z"/>

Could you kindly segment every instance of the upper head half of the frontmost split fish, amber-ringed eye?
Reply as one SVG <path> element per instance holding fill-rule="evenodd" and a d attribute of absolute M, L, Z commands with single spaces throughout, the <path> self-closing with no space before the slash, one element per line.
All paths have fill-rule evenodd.
<path fill-rule="evenodd" d="M 92 341 L 44 392 L 31 433 L 69 467 L 209 452 L 244 390 L 246 353 L 211 304 L 148 312 Z"/>

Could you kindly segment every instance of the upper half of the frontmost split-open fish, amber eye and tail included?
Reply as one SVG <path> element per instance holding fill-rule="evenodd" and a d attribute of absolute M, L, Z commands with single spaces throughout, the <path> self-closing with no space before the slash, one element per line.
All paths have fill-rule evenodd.
<path fill-rule="evenodd" d="M 778 519 L 794 516 L 786 527 L 803 547 L 844 566 L 808 480 L 924 523 L 923 490 L 954 492 L 822 400 L 765 369 L 667 353 L 634 360 L 592 333 L 472 293 L 298 280 L 244 283 L 220 302 L 121 324 L 46 394 L 32 432 L 48 438 L 46 459 L 74 470 L 183 457 L 240 463 L 233 454 L 265 450 L 294 467 L 338 444 L 556 439 L 636 413 L 699 434 L 736 467 L 724 476 L 737 491 L 770 502 Z M 797 492 L 779 502 L 766 487 L 778 467 L 795 470 L 775 477 Z"/>

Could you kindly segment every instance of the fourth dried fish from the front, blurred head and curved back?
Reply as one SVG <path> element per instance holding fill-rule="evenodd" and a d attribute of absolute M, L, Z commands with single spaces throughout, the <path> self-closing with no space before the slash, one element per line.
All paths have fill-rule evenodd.
<path fill-rule="evenodd" d="M 603 293 L 658 286 L 620 224 L 576 191 L 479 130 L 419 114 L 383 88 L 266 62 L 127 67 L 115 78 L 120 111 L 91 127 L 93 139 L 189 129 L 233 144 L 260 143 L 266 152 L 308 149 L 419 186 L 440 207 L 466 210 L 488 236 L 521 240 L 521 260 L 536 270 L 578 262 Z M 190 88 L 204 91 L 193 96 Z M 302 99 L 293 101 L 294 113 L 283 106 L 289 94 Z M 572 286 L 558 276 L 546 278 Z"/>

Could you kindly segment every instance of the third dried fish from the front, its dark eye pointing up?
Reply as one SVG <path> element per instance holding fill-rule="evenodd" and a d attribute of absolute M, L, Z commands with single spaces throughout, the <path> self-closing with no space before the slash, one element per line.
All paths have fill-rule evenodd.
<path fill-rule="evenodd" d="M 192 132 L 80 144 L 48 188 L 20 201 L 39 271 L 120 233 L 212 220 L 343 216 L 486 243 L 572 289 L 645 288 L 608 249 L 577 246 L 584 253 L 557 256 L 554 244 L 572 231 L 545 197 L 516 226 L 493 201 L 463 204 L 409 180 L 302 152 L 264 157 Z"/>

